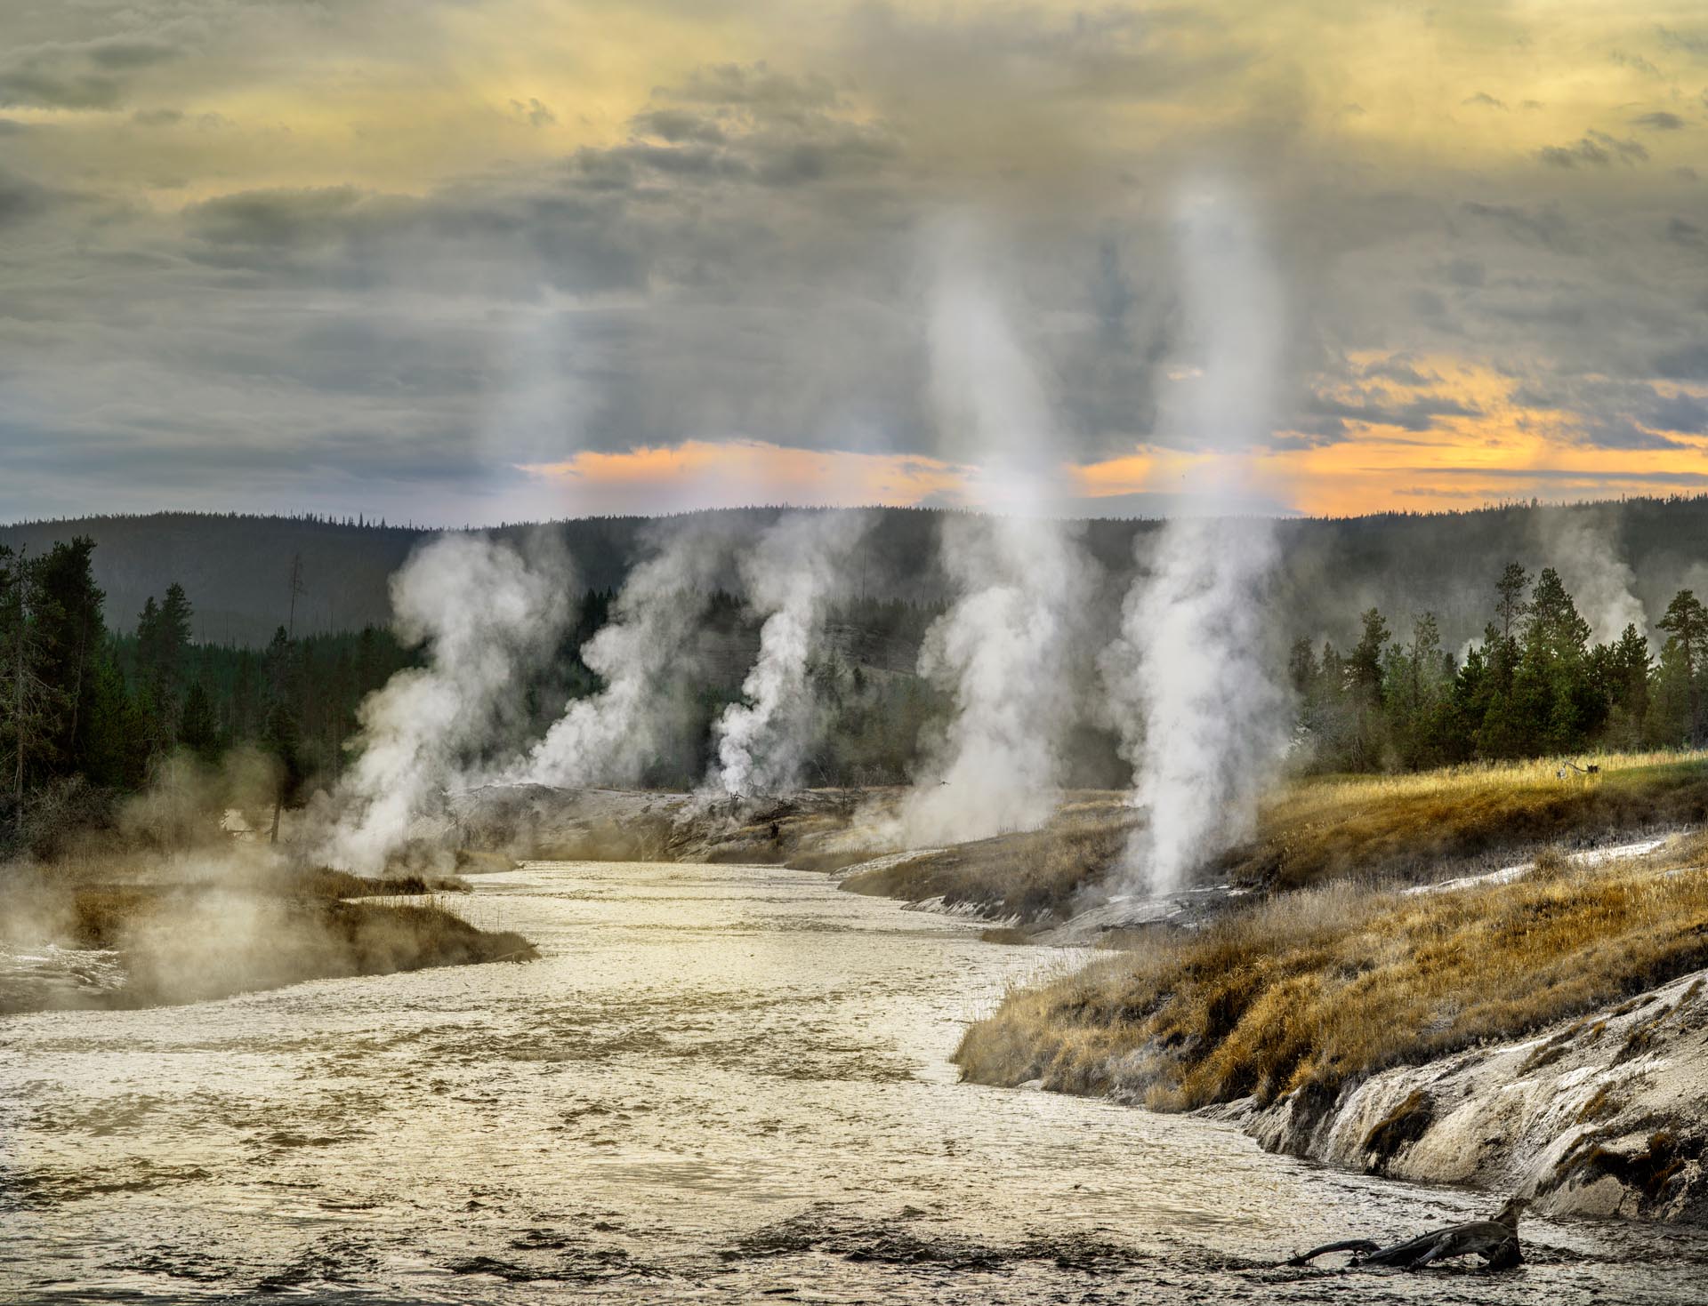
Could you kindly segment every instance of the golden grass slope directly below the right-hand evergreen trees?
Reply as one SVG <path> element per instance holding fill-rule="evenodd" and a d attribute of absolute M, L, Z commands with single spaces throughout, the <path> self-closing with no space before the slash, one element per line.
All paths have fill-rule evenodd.
<path fill-rule="evenodd" d="M 1279 790 L 1257 835 L 1218 872 L 1290 889 L 1329 879 L 1438 879 L 1537 843 L 1583 843 L 1708 819 L 1708 755 L 1628 753 L 1450 767 L 1416 775 L 1322 777 Z"/>

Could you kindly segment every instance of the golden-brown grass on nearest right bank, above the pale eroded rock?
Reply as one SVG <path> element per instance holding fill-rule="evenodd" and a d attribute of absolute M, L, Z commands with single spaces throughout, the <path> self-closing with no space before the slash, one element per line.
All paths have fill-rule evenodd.
<path fill-rule="evenodd" d="M 1708 838 L 1450 893 L 1332 884 L 1155 937 L 972 1026 L 968 1079 L 1190 1110 L 1332 1091 L 1708 966 Z"/>

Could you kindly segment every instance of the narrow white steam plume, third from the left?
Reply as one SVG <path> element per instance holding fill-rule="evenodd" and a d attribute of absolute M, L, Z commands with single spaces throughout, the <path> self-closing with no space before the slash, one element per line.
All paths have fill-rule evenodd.
<path fill-rule="evenodd" d="M 823 638 L 825 606 L 866 521 L 854 512 L 782 517 L 741 557 L 748 604 L 765 613 L 758 657 L 712 727 L 711 784 L 726 794 L 794 789 L 811 732 L 808 659 Z"/>

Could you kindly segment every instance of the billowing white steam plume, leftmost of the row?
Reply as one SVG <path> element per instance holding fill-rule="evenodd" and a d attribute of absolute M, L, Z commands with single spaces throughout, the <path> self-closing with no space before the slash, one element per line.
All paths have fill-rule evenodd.
<path fill-rule="evenodd" d="M 383 871 L 442 790 L 519 734 L 518 674 L 555 649 L 570 592 L 569 560 L 543 536 L 528 558 L 478 536 L 444 536 L 410 555 L 391 579 L 391 606 L 398 633 L 425 642 L 427 666 L 362 702 L 360 756 L 316 838 L 325 862 Z"/>

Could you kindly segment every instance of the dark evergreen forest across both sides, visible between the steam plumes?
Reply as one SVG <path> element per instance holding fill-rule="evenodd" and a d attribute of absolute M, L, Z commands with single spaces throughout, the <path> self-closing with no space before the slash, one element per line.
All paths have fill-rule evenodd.
<path fill-rule="evenodd" d="M 285 621 L 263 649 L 198 640 L 198 598 L 178 580 L 145 596 L 133 628 L 114 630 L 123 613 L 113 615 L 96 579 L 97 557 L 87 536 L 0 545 L 0 843 L 39 845 L 68 808 L 135 792 L 173 758 L 212 763 L 239 746 L 268 760 L 275 802 L 304 799 L 335 785 L 360 744 L 362 700 L 420 657 L 384 627 L 294 632 L 289 592 Z M 1462 652 L 1443 642 L 1431 611 L 1382 604 L 1360 613 L 1356 587 L 1324 586 L 1324 611 L 1337 604 L 1336 627 L 1356 628 L 1358 638 L 1300 637 L 1291 654 L 1271 650 L 1274 679 L 1291 688 L 1296 770 L 1414 770 L 1708 741 L 1708 609 L 1691 589 L 1597 637 L 1556 568 L 1479 563 L 1483 625 Z M 828 609 L 808 664 L 813 727 L 803 770 L 822 785 L 900 784 L 933 748 L 948 705 L 945 688 L 915 673 L 945 604 L 863 596 L 859 582 L 849 591 Z M 702 599 L 693 647 L 668 688 L 680 700 L 671 732 L 642 777 L 651 785 L 692 787 L 705 775 L 712 722 L 741 697 L 758 650 L 758 618 L 740 594 Z M 504 743 L 512 753 L 569 700 L 600 688 L 582 649 L 610 621 L 613 601 L 611 589 L 582 592 L 555 656 L 509 686 L 523 707 L 516 738 Z M 1071 784 L 1127 784 L 1097 708 L 1095 659 L 1068 674 L 1086 703 L 1073 722 Z"/>

